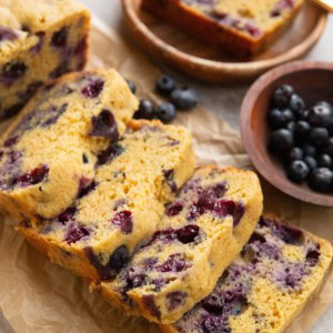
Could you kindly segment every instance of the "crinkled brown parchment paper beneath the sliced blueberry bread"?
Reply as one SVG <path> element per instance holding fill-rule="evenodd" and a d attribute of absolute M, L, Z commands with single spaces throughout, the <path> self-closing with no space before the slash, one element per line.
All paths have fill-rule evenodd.
<path fill-rule="evenodd" d="M 100 28 L 101 29 L 101 28 Z M 139 51 L 112 31 L 94 28 L 91 34 L 90 67 L 114 67 L 139 85 L 139 95 L 153 94 L 159 75 Z M 215 162 L 251 168 L 240 137 L 225 122 L 202 107 L 180 113 L 175 121 L 194 137 L 199 163 Z M 262 182 L 265 212 L 274 213 L 315 234 L 333 241 L 333 210 L 291 199 Z M 159 329 L 143 319 L 124 316 L 88 284 L 70 272 L 51 264 L 13 231 L 14 223 L 0 221 L 0 309 L 17 332 L 108 332 L 158 333 Z M 333 278 L 289 329 L 307 332 L 333 302 Z M 1 329 L 0 329 L 1 331 Z"/>

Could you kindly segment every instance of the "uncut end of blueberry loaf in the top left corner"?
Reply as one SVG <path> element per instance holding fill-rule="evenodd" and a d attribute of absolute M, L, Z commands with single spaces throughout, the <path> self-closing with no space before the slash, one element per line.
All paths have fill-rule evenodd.
<path fill-rule="evenodd" d="M 90 13 L 74 0 L 0 0 L 0 119 L 36 90 L 83 69 Z"/>

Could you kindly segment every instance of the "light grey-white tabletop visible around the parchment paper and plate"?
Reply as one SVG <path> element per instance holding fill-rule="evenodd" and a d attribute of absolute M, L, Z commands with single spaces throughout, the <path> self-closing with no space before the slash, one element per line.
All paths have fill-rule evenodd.
<path fill-rule="evenodd" d="M 87 4 L 92 12 L 102 19 L 104 23 L 113 29 L 117 29 L 121 33 L 124 33 L 124 27 L 122 22 L 121 0 L 80 0 Z M 316 47 L 306 56 L 305 59 L 312 60 L 325 60 L 333 61 L 333 17 L 329 19 L 324 36 L 321 38 Z M 242 99 L 249 88 L 249 85 L 223 88 L 220 85 L 206 85 L 193 82 L 190 79 L 178 77 L 180 81 L 195 88 L 201 98 L 201 103 L 209 110 L 212 110 L 216 115 L 222 117 L 233 128 L 238 129 L 239 125 L 239 110 Z M 0 312 L 0 332 L 12 333 L 12 329 L 9 327 Z M 311 333 L 333 333 L 333 304 L 329 311 L 316 323 Z M 21 333 L 21 332 L 19 332 Z M 121 333 L 121 332 L 119 332 Z"/>

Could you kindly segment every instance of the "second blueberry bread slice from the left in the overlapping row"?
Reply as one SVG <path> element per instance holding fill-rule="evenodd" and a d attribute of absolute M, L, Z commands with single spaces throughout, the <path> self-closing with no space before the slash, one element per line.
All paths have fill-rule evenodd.
<path fill-rule="evenodd" d="M 182 127 L 133 121 L 89 160 L 95 175 L 80 178 L 68 208 L 19 231 L 53 262 L 98 282 L 112 279 L 157 230 L 164 204 L 193 174 L 192 137 Z"/>

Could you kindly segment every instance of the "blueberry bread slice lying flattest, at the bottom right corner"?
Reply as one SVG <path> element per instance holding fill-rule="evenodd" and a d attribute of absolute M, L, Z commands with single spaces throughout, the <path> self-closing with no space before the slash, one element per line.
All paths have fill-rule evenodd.
<path fill-rule="evenodd" d="M 262 218 L 213 292 L 165 333 L 281 333 L 321 286 L 332 245 Z"/>

